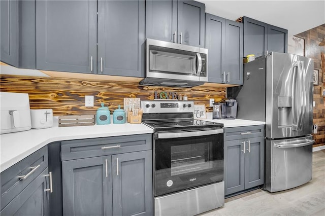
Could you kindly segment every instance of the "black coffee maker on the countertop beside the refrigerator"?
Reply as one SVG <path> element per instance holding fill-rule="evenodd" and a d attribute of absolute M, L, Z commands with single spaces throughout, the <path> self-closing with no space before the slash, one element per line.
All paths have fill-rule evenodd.
<path fill-rule="evenodd" d="M 220 102 L 213 103 L 213 119 L 236 119 L 237 102 L 234 98 L 223 98 Z"/>

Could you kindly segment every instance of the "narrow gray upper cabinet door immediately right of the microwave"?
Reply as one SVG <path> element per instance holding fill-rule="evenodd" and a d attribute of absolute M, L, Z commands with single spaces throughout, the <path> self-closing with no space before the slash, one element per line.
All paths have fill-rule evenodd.
<path fill-rule="evenodd" d="M 222 83 L 222 60 L 225 51 L 225 19 L 212 14 L 205 15 L 205 48 L 209 50 L 208 81 Z"/>

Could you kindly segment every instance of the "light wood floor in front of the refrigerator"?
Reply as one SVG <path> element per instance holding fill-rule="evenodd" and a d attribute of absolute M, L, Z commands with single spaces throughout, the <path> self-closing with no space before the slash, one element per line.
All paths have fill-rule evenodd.
<path fill-rule="evenodd" d="M 225 199 L 212 215 L 325 215 L 325 150 L 313 152 L 312 180 L 300 187 L 269 193 L 257 189 Z"/>

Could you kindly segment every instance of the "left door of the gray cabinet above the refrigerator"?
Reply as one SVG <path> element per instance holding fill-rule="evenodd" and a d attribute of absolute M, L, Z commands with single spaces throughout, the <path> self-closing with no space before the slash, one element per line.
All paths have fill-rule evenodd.
<path fill-rule="evenodd" d="M 254 54 L 255 58 L 266 54 L 268 24 L 248 17 L 244 23 L 244 56 Z"/>

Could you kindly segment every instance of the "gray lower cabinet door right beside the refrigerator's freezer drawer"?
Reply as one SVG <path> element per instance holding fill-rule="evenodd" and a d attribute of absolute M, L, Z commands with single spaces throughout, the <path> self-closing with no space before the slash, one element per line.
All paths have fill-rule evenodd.
<path fill-rule="evenodd" d="M 264 137 L 245 139 L 245 189 L 264 184 Z"/>

